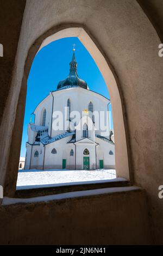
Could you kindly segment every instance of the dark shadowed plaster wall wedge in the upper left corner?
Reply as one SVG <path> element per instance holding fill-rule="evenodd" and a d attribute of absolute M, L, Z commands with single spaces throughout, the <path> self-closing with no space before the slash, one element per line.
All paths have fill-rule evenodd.
<path fill-rule="evenodd" d="M 0 124 L 10 89 L 25 3 L 25 0 L 21 0 L 19 3 L 17 0 L 1 0 L 0 44 L 3 45 L 3 57 L 0 57 Z"/>

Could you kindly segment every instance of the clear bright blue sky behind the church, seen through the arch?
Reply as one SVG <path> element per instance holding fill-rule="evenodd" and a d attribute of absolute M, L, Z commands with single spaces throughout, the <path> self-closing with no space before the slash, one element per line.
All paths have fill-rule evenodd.
<path fill-rule="evenodd" d="M 100 93 L 110 99 L 101 72 L 78 38 L 60 39 L 43 47 L 39 53 L 36 54 L 28 77 L 21 156 L 26 155 L 26 141 L 28 139 L 27 126 L 30 122 L 30 114 L 33 113 L 37 104 L 39 104 L 49 92 L 57 89 L 58 82 L 68 76 L 69 63 L 71 62 L 73 54 L 73 44 L 76 45 L 78 76 L 87 82 L 90 90 Z"/>

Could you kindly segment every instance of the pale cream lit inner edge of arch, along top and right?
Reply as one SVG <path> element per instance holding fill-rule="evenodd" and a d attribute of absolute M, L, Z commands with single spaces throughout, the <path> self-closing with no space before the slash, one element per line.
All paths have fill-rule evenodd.
<path fill-rule="evenodd" d="M 45 36 L 46 35 L 47 34 L 45 34 Z M 40 49 L 52 41 L 55 41 L 64 37 L 68 37 L 68 36 L 78 37 L 78 39 L 89 51 L 92 58 L 95 60 L 99 70 L 101 71 L 101 74 L 104 77 L 106 85 L 108 86 L 108 88 L 110 88 L 110 96 L 112 99 L 112 115 L 113 115 L 113 121 L 115 126 L 114 133 L 116 138 L 115 156 L 116 156 L 117 176 L 123 176 L 124 178 L 129 179 L 127 142 L 126 142 L 124 120 L 123 120 L 122 102 L 121 102 L 120 93 L 118 92 L 118 87 L 117 87 L 114 74 L 112 73 L 109 66 L 110 65 L 109 61 L 107 60 L 106 62 L 106 59 L 104 58 L 101 51 L 99 51 L 99 49 L 95 45 L 95 42 L 93 42 L 91 37 L 84 31 L 83 28 L 76 27 L 76 28 L 62 29 L 59 32 L 45 38 L 42 45 L 40 46 Z M 28 71 L 29 71 L 29 66 L 31 66 L 32 64 L 31 54 L 33 53 L 29 51 L 29 56 L 26 64 L 27 65 L 26 68 Z M 27 78 L 25 76 L 23 79 L 23 84 L 26 83 L 27 81 L 26 79 Z"/>

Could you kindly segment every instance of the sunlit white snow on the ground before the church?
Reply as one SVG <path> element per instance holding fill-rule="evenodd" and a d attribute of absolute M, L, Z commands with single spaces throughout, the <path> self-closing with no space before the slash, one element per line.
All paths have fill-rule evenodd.
<path fill-rule="evenodd" d="M 17 189 L 22 186 L 55 185 L 116 178 L 116 170 L 19 170 Z M 37 186 L 36 186 L 37 187 Z M 40 187 L 40 186 L 39 186 Z"/>

